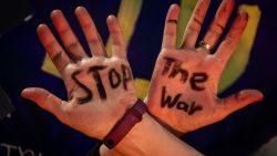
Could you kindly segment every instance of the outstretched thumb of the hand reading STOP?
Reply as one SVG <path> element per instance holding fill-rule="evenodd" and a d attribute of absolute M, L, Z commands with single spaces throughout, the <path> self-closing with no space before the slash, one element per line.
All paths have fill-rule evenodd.
<path fill-rule="evenodd" d="M 22 97 L 33 101 L 37 105 L 42 107 L 43 110 L 55 115 L 60 121 L 64 122 L 64 108 L 66 104 L 45 91 L 44 89 L 39 87 L 28 87 L 24 89 L 21 93 Z"/>

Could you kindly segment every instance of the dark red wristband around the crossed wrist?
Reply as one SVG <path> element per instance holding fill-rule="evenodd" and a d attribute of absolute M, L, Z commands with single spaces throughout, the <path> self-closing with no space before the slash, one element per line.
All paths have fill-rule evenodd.
<path fill-rule="evenodd" d="M 103 143 L 110 149 L 116 146 L 131 128 L 142 121 L 142 115 L 146 112 L 146 105 L 137 100 L 133 107 L 129 108 L 124 116 L 114 125 L 112 131 L 104 137 Z"/>

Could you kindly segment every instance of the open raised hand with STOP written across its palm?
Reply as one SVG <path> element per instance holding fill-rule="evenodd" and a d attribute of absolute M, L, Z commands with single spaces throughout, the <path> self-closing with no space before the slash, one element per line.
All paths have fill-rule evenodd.
<path fill-rule="evenodd" d="M 60 10 L 51 13 L 51 20 L 68 54 L 45 24 L 38 27 L 40 41 L 62 75 L 69 100 L 62 101 L 39 87 L 23 90 L 22 96 L 54 114 L 62 123 L 102 139 L 137 97 L 115 17 L 110 15 L 106 20 L 113 54 L 106 58 L 102 40 L 88 11 L 79 7 L 75 15 L 92 58 L 84 52 Z"/>

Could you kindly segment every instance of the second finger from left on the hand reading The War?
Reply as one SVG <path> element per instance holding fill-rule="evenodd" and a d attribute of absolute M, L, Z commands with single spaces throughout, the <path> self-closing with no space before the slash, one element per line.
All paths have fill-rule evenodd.
<path fill-rule="evenodd" d="M 209 0 L 198 0 L 185 30 L 182 48 L 195 48 L 209 2 Z"/>

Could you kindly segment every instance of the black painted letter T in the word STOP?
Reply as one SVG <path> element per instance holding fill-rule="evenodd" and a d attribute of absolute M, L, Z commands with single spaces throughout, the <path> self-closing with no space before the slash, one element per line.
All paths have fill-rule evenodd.
<path fill-rule="evenodd" d="M 98 87 L 101 100 L 106 100 L 106 93 L 105 93 L 105 89 L 104 89 L 104 85 L 103 85 L 103 82 L 101 80 L 99 72 L 104 70 L 105 67 L 106 66 L 103 66 L 103 65 L 95 65 L 95 66 L 91 66 L 88 71 L 88 73 L 92 73 L 93 79 L 96 82 L 96 87 Z"/>

